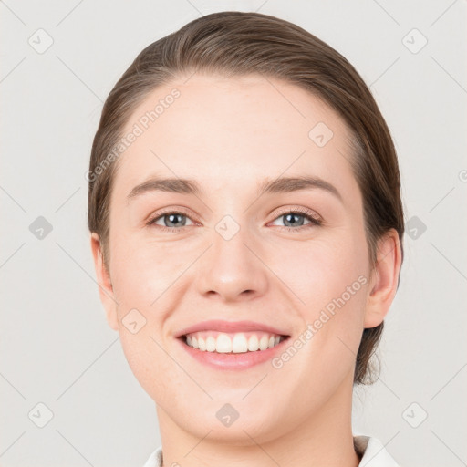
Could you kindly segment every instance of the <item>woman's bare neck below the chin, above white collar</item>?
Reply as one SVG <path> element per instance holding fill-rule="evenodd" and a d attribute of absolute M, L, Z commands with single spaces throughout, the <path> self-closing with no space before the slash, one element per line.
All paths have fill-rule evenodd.
<path fill-rule="evenodd" d="M 353 376 L 353 375 L 351 375 Z M 244 441 L 210 438 L 207 427 L 201 436 L 177 425 L 169 413 L 156 405 L 161 431 L 163 467 L 358 467 L 351 428 L 352 380 L 305 418 L 305 422 L 277 431 L 260 441 L 244 431 Z"/>

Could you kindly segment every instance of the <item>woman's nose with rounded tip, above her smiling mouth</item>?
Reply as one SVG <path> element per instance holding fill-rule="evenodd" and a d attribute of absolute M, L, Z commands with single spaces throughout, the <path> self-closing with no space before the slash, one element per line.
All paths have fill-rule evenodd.
<path fill-rule="evenodd" d="M 223 302 L 251 300 L 266 293 L 267 266 L 253 236 L 242 229 L 233 238 L 213 233 L 213 244 L 200 258 L 196 286 L 202 296 Z"/>

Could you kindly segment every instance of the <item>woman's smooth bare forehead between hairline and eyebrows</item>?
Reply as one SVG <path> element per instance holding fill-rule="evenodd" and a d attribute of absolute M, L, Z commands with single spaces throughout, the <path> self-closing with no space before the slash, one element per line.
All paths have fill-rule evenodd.
<path fill-rule="evenodd" d="M 119 156 L 115 196 L 153 173 L 195 179 L 212 191 L 249 183 L 254 190 L 265 177 L 300 174 L 356 189 L 343 119 L 310 92 L 275 78 L 174 79 L 141 102 L 124 134 L 131 131 L 138 136 Z"/>

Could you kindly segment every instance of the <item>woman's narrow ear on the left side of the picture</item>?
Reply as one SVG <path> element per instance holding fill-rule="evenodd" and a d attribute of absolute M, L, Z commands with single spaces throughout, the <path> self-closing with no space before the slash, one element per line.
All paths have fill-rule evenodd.
<path fill-rule="evenodd" d="M 99 235 L 97 233 L 91 233 L 90 240 L 92 256 L 94 258 L 94 267 L 96 269 L 96 276 L 99 284 L 100 301 L 105 308 L 109 327 L 117 331 L 119 330 L 119 317 L 117 313 L 118 302 L 113 294 L 109 272 L 104 265 Z"/>

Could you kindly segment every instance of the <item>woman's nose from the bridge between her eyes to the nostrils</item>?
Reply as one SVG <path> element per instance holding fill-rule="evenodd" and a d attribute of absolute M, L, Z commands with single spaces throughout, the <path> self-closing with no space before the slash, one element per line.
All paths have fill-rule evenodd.
<path fill-rule="evenodd" d="M 216 293 L 225 300 L 235 300 L 265 293 L 266 271 L 253 253 L 254 237 L 246 225 L 230 215 L 214 225 L 212 246 L 202 258 L 197 275 L 201 294 Z"/>

